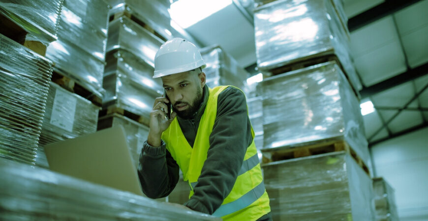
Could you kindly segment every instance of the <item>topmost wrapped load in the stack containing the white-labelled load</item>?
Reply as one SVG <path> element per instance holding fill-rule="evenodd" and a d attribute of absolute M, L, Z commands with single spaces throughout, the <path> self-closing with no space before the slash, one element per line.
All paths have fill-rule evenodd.
<path fill-rule="evenodd" d="M 58 37 L 104 61 L 108 13 L 104 0 L 65 0 Z"/>

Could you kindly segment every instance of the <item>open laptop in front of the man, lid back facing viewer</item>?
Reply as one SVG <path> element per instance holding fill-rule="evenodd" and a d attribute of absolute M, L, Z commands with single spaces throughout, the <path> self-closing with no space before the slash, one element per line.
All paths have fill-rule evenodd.
<path fill-rule="evenodd" d="M 53 171 L 143 195 L 122 125 L 44 146 Z"/>

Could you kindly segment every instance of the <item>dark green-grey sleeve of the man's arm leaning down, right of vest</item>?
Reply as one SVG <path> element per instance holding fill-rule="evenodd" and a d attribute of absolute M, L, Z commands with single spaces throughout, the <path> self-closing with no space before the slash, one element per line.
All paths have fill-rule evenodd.
<path fill-rule="evenodd" d="M 234 87 L 228 87 L 218 96 L 207 160 L 193 196 L 184 205 L 213 214 L 232 190 L 251 142 L 245 95 Z"/>

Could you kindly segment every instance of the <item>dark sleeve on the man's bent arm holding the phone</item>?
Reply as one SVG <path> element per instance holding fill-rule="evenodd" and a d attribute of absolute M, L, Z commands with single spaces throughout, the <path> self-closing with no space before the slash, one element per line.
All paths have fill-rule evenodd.
<path fill-rule="evenodd" d="M 163 140 L 160 147 L 153 147 L 146 140 L 138 164 L 138 177 L 143 193 L 153 199 L 167 196 L 177 185 L 179 168 Z"/>

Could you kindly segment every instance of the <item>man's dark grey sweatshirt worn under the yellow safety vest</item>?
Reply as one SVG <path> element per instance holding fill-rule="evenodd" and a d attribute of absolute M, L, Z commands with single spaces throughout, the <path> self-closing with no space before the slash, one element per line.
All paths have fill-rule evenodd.
<path fill-rule="evenodd" d="M 193 119 L 178 117 L 184 137 L 192 147 L 208 94 L 208 86 L 205 86 L 203 102 Z M 242 91 L 228 87 L 219 94 L 217 116 L 209 139 L 207 160 L 193 196 L 184 205 L 195 211 L 213 214 L 232 190 L 246 149 L 252 142 L 251 124 Z M 150 146 L 147 141 L 144 143 L 138 175 L 143 192 L 150 198 L 165 197 L 173 191 L 179 180 L 179 166 L 163 141 L 160 147 Z"/>

